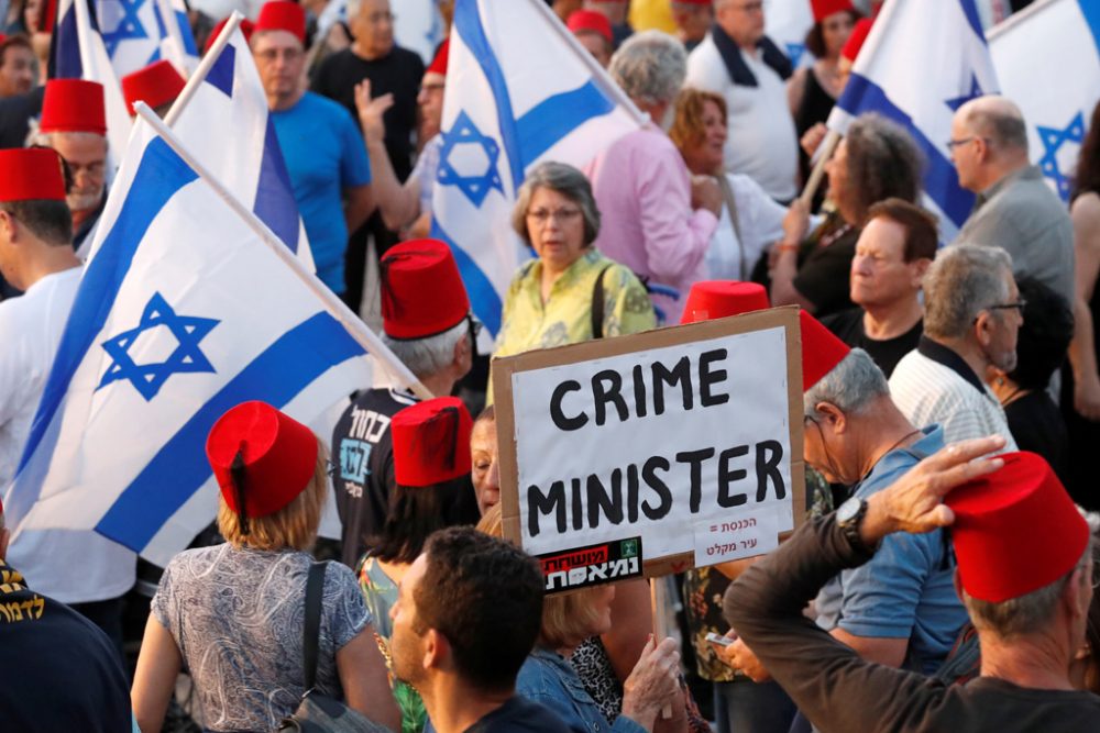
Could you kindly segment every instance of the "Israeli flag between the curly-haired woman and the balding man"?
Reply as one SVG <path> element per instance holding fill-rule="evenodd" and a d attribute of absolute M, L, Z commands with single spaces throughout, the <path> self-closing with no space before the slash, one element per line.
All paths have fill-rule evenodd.
<path fill-rule="evenodd" d="M 998 89 L 974 0 L 888 0 L 827 124 L 844 133 L 856 115 L 878 112 L 909 130 L 925 157 L 924 206 L 952 242 L 974 208 L 947 148 L 952 118 Z"/>

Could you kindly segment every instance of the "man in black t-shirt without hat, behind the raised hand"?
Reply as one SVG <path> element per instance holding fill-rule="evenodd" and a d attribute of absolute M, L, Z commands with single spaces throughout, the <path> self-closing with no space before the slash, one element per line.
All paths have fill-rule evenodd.
<path fill-rule="evenodd" d="M 407 180 L 413 170 L 413 141 L 424 143 L 429 134 L 417 129 L 417 98 L 424 79 L 420 56 L 394 43 L 394 9 L 391 0 L 349 0 L 348 18 L 351 46 L 328 56 L 314 73 L 312 90 L 358 115 L 355 88 L 361 81 L 371 82 L 371 95 L 393 95 L 393 105 L 385 110 L 385 145 L 398 180 Z M 399 241 L 381 214 L 367 225 L 352 232 L 348 242 L 348 301 L 355 308 L 362 299 L 363 273 L 366 264 L 366 240 L 374 237 L 377 256 Z"/>

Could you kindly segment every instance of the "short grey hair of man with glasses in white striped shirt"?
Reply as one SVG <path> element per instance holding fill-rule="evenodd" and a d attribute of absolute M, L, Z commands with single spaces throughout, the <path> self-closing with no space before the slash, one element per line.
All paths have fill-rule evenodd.
<path fill-rule="evenodd" d="M 924 332 L 963 338 L 978 314 L 1009 297 L 1012 257 L 1000 247 L 955 244 L 941 249 L 924 275 Z"/>

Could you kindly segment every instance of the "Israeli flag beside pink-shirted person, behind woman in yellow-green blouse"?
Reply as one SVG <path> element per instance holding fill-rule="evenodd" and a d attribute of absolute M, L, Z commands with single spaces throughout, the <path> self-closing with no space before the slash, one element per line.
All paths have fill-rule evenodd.
<path fill-rule="evenodd" d="M 510 225 L 525 171 L 542 160 L 581 168 L 642 123 L 544 2 L 458 0 L 431 229 L 451 245 L 490 333 L 530 257 Z"/>

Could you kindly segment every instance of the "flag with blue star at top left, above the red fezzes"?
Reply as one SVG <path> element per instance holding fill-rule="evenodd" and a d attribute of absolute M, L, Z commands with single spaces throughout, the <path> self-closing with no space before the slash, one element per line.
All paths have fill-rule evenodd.
<path fill-rule="evenodd" d="M 96 0 L 96 14 L 119 78 L 162 58 L 184 76 L 198 64 L 187 10 L 179 0 Z"/>

